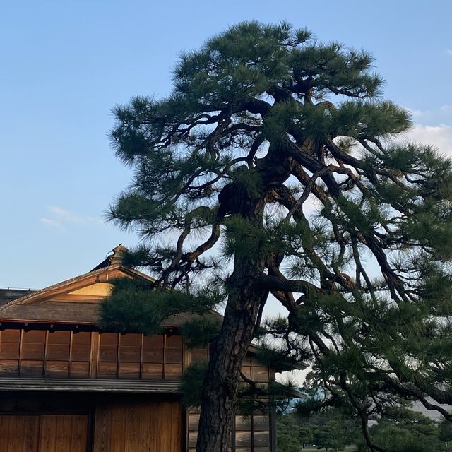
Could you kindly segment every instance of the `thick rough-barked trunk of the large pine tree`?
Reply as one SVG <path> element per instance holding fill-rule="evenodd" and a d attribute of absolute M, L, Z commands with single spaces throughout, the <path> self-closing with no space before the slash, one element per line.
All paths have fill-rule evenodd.
<path fill-rule="evenodd" d="M 231 185 L 230 213 L 262 225 L 263 199 L 253 198 L 240 184 Z M 245 261 L 234 259 L 221 332 L 210 345 L 196 452 L 226 452 L 230 444 L 242 362 L 253 338 L 259 307 L 266 299 L 266 290 L 250 278 L 250 273 L 263 268 L 263 260 L 253 256 Z"/>

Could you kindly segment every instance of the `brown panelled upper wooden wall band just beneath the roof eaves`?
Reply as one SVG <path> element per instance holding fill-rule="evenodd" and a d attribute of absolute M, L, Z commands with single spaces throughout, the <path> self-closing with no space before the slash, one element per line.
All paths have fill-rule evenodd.
<path fill-rule="evenodd" d="M 0 377 L 179 379 L 180 335 L 0 331 Z"/>

